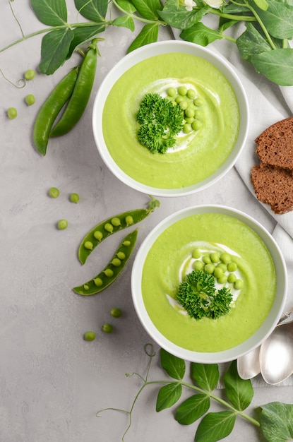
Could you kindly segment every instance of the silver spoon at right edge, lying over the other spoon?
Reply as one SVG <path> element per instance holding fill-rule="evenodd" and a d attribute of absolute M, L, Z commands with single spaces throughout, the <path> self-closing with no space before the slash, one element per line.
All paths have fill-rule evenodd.
<path fill-rule="evenodd" d="M 263 379 L 270 385 L 285 381 L 293 373 L 293 311 L 282 316 L 263 342 L 259 361 Z"/>

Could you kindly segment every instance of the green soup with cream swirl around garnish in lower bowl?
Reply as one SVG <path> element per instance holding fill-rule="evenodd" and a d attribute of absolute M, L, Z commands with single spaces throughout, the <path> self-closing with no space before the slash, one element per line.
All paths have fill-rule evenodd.
<path fill-rule="evenodd" d="M 244 282 L 232 289 L 232 308 L 217 319 L 191 318 L 176 301 L 179 284 L 192 269 L 193 250 L 225 251 Z M 258 234 L 234 217 L 191 215 L 167 227 L 143 266 L 143 301 L 151 321 L 174 344 L 196 352 L 220 352 L 248 339 L 265 321 L 276 291 L 273 259 Z"/>

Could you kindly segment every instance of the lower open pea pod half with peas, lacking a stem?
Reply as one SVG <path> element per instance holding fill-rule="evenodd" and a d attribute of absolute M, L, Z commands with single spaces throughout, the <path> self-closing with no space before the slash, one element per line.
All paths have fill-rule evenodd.
<path fill-rule="evenodd" d="M 133 230 L 133 232 L 126 235 L 108 265 L 93 277 L 92 280 L 85 282 L 85 284 L 78 287 L 74 287 L 73 292 L 88 296 L 90 294 L 102 292 L 102 290 L 109 287 L 109 285 L 111 285 L 121 274 L 126 262 L 130 258 L 136 244 L 137 235 L 138 229 Z"/>

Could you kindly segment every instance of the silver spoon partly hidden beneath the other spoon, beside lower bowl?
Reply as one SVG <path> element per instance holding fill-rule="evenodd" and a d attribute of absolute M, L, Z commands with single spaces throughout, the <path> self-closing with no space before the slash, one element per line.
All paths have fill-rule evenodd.
<path fill-rule="evenodd" d="M 277 323 L 276 328 L 278 325 L 284 323 L 284 321 L 292 321 L 292 316 L 293 310 L 284 313 L 280 318 L 280 321 Z M 237 359 L 237 371 L 242 379 L 251 379 L 261 373 L 260 352 L 261 345 Z"/>

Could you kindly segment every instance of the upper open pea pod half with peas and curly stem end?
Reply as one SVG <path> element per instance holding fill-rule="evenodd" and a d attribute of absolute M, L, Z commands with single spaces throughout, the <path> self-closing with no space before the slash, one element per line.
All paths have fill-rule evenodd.
<path fill-rule="evenodd" d="M 93 229 L 85 235 L 80 243 L 78 249 L 78 259 L 80 263 L 84 264 L 88 256 L 97 247 L 100 242 L 104 241 L 111 234 L 125 229 L 131 225 L 137 224 L 152 213 L 160 202 L 153 196 L 150 196 L 152 201 L 148 203 L 148 207 L 144 209 L 128 210 L 128 212 L 120 213 L 114 217 L 108 218 L 100 222 L 100 224 L 93 227 Z"/>

